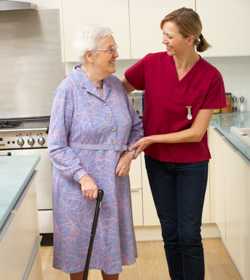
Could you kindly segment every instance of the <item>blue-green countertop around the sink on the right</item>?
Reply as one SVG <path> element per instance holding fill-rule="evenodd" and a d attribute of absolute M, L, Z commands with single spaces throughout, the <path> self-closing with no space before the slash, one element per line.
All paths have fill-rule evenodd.
<path fill-rule="evenodd" d="M 215 113 L 210 125 L 214 125 L 239 151 L 250 160 L 250 147 L 236 134 L 230 131 L 231 126 L 250 127 L 250 111 L 244 113 Z"/>

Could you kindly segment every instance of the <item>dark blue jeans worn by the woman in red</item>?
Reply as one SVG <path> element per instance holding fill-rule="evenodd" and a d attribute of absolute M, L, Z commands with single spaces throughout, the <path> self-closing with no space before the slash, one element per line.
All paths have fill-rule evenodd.
<path fill-rule="evenodd" d="M 204 280 L 201 220 L 208 160 L 161 162 L 145 155 L 172 280 Z"/>

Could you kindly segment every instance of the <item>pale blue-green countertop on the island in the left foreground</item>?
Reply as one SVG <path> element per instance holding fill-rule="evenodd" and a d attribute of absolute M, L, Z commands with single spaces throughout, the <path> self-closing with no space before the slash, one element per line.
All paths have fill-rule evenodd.
<path fill-rule="evenodd" d="M 0 228 L 28 183 L 40 155 L 0 157 Z"/>

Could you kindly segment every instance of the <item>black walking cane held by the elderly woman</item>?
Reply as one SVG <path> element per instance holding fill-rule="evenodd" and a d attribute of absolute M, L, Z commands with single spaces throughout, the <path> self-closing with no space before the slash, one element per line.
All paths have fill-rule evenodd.
<path fill-rule="evenodd" d="M 81 185 L 80 185 L 80 190 L 82 190 Z M 95 231 L 96 231 L 97 221 L 99 217 L 100 205 L 101 205 L 101 201 L 103 200 L 103 194 L 104 194 L 103 190 L 98 190 L 98 195 L 96 199 L 97 201 L 95 206 L 95 214 L 94 214 L 93 225 L 90 234 L 90 241 L 88 245 L 88 254 L 87 254 L 84 273 L 83 273 L 83 280 L 87 280 L 87 276 L 88 276 L 88 267 L 89 267 L 91 253 L 92 253 L 93 242 L 95 238 Z"/>

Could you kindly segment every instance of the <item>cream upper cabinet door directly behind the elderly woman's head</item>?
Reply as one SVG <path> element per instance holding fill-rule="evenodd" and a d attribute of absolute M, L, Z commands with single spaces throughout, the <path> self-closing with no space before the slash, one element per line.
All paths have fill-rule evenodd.
<path fill-rule="evenodd" d="M 128 1 L 119 0 L 62 0 L 60 9 L 62 60 L 75 62 L 72 44 L 78 29 L 85 23 L 97 22 L 110 27 L 119 46 L 119 59 L 130 59 Z"/>

